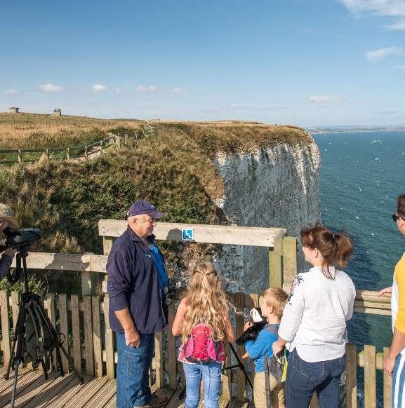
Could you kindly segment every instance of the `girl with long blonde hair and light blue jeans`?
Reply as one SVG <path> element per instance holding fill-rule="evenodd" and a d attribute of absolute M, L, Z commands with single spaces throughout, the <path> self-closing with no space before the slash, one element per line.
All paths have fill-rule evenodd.
<path fill-rule="evenodd" d="M 186 348 L 196 327 L 206 329 L 208 342 L 216 344 L 218 353 L 211 358 L 195 362 L 187 356 Z M 197 408 L 199 404 L 199 383 L 204 383 L 206 408 L 217 408 L 220 395 L 222 363 L 225 361 L 224 341 L 234 341 L 234 329 L 229 316 L 225 292 L 221 288 L 218 273 L 208 261 L 201 261 L 194 267 L 187 290 L 180 301 L 173 322 L 174 336 L 181 334 L 182 344 L 178 360 L 183 363 L 186 379 L 186 408 Z M 200 350 L 201 351 L 201 350 Z M 210 354 L 207 351 L 207 354 Z M 190 361 L 194 360 L 194 362 Z M 208 362 L 208 363 L 207 363 Z"/>

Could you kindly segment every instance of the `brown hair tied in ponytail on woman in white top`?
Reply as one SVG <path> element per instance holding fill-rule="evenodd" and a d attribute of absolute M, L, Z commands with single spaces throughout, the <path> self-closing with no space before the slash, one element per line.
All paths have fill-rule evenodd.
<path fill-rule="evenodd" d="M 329 266 L 345 266 L 353 254 L 352 240 L 343 232 L 333 233 L 324 226 L 316 225 L 301 231 L 301 243 L 312 250 L 317 248 L 325 260 L 322 271 L 328 279 L 335 277 Z"/>

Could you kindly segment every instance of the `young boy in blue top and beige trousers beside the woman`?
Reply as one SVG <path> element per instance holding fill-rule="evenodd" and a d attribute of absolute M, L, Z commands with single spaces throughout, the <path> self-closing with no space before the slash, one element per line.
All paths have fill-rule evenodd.
<path fill-rule="evenodd" d="M 279 287 L 270 287 L 270 289 L 263 292 L 262 297 L 262 315 L 267 318 L 267 325 L 263 327 L 255 341 L 248 340 L 245 344 L 249 357 L 255 360 L 253 387 L 255 408 L 268 407 L 266 401 L 265 355 L 267 355 L 268 359 L 272 358 L 272 344 L 278 339 L 279 325 L 288 294 Z M 244 330 L 251 325 L 251 322 L 247 322 Z M 285 408 L 284 383 L 278 383 L 271 373 L 269 373 L 269 380 L 271 407 Z"/>

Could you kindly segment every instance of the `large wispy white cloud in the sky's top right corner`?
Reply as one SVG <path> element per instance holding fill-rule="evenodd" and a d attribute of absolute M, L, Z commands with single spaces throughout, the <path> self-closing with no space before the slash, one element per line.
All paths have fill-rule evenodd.
<path fill-rule="evenodd" d="M 354 14 L 371 13 L 387 17 L 398 18 L 397 22 L 388 25 L 387 29 L 405 29 L 405 1 L 404 0 L 340 0 Z"/>

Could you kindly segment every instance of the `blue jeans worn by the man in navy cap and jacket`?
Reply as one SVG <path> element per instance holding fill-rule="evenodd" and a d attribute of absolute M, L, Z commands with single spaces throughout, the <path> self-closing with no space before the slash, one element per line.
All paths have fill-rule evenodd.
<path fill-rule="evenodd" d="M 117 334 L 117 408 L 149 404 L 149 370 L 154 354 L 154 334 L 140 333 L 140 348 L 128 347 L 124 333 Z"/>

